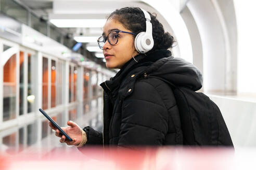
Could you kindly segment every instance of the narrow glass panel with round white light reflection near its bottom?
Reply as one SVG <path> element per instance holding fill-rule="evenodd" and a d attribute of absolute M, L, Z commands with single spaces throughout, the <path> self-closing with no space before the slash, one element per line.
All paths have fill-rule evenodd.
<path fill-rule="evenodd" d="M 31 54 L 28 54 L 28 96 L 27 96 L 27 102 L 28 102 L 28 113 L 31 113 L 34 111 L 34 100 L 35 100 L 35 95 L 34 95 L 34 82 L 35 79 L 32 79 L 32 76 L 36 77 L 36 73 L 32 72 L 32 58 L 33 56 Z"/>

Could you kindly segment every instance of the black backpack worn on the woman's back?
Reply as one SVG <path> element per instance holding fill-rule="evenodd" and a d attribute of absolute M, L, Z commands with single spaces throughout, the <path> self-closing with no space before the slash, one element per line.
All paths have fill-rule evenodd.
<path fill-rule="evenodd" d="M 155 78 L 168 83 L 173 90 L 180 112 L 183 145 L 233 147 L 221 111 L 207 95 Z"/>

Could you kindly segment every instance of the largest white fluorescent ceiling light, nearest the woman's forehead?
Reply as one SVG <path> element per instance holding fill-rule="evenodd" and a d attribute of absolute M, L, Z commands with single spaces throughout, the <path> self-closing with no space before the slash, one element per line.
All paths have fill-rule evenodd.
<path fill-rule="evenodd" d="M 103 27 L 106 19 L 50 19 L 57 27 Z"/>

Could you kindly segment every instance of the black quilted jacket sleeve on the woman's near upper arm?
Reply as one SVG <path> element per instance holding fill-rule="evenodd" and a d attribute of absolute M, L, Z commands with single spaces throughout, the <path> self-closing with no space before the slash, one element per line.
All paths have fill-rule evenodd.
<path fill-rule="evenodd" d="M 162 145 L 168 110 L 159 90 L 147 80 L 135 83 L 133 93 L 123 101 L 119 146 Z"/>

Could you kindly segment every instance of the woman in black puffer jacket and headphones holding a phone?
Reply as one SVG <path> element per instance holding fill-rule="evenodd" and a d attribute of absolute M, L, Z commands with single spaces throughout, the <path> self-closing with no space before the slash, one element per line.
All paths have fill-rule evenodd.
<path fill-rule="evenodd" d="M 126 7 L 108 17 L 98 44 L 103 49 L 106 66 L 120 68 L 120 71 L 100 84 L 104 89 L 103 133 L 89 126 L 81 129 L 68 121 L 69 126 L 63 127 L 73 139 L 68 141 L 49 123 L 56 130 L 56 136 L 61 137 L 61 143 L 78 147 L 183 144 L 172 89 L 158 77 L 196 91 L 202 86 L 202 75 L 192 64 L 171 56 L 167 49 L 172 47 L 174 38 L 164 33 L 156 16 L 146 15 L 140 8 Z M 145 31 L 144 48 L 136 36 Z M 151 46 L 149 51 L 148 46 Z"/>

